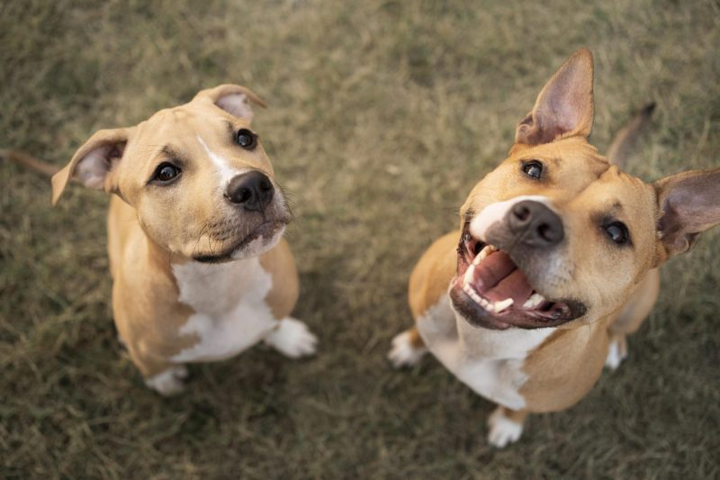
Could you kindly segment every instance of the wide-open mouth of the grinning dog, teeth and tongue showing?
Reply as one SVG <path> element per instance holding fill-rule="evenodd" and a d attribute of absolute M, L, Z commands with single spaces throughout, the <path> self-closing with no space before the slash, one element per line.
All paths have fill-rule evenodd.
<path fill-rule="evenodd" d="M 468 322 L 495 330 L 554 327 L 585 312 L 582 303 L 545 298 L 508 252 L 473 238 L 469 222 L 457 247 L 450 297 Z"/>

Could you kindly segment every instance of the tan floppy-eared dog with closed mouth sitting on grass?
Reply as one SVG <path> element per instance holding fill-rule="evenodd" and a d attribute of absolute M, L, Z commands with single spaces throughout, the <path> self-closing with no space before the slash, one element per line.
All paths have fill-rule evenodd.
<path fill-rule="evenodd" d="M 242 86 L 222 85 L 134 127 L 97 131 L 52 178 L 115 194 L 108 214 L 112 312 L 130 358 L 161 394 L 184 363 L 260 340 L 297 358 L 316 338 L 290 317 L 298 276 L 281 240 L 291 213 L 250 130 Z"/>

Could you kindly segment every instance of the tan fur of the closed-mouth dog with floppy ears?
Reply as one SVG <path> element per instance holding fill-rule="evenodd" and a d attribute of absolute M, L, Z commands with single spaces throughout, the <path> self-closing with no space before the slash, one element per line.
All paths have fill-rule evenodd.
<path fill-rule="evenodd" d="M 262 145 L 242 149 L 233 137 L 249 128 L 247 99 L 264 105 L 244 87 L 218 86 L 136 126 L 97 131 L 52 177 L 53 204 L 71 178 L 115 194 L 108 213 L 112 311 L 130 359 L 145 377 L 166 371 L 171 358 L 201 340 L 180 332 L 195 311 L 179 301 L 173 267 L 232 249 L 262 222 L 289 220 L 277 188 L 262 215 L 223 198 L 212 155 L 231 162 L 232 171 L 256 170 L 273 178 Z M 148 181 L 168 159 L 182 165 L 182 188 Z M 272 278 L 265 302 L 276 320 L 284 319 L 299 291 L 287 242 L 262 253 L 260 265 Z"/>

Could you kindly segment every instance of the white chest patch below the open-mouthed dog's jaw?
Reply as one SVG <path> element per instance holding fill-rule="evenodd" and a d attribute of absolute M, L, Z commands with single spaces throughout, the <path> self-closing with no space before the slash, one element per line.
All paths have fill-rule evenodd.
<path fill-rule="evenodd" d="M 519 394 L 527 381 L 523 361 L 554 331 L 475 328 L 456 317 L 447 295 L 418 319 L 418 329 L 433 355 L 465 385 L 513 410 L 526 404 Z"/>

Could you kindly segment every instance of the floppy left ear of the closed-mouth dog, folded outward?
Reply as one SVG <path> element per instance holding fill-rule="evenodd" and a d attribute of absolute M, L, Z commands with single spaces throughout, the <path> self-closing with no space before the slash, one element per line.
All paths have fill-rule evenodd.
<path fill-rule="evenodd" d="M 122 158 L 132 130 L 120 128 L 94 132 L 76 151 L 70 163 L 52 176 L 52 204 L 58 204 L 70 178 L 90 188 L 105 189 L 105 178 Z"/>

